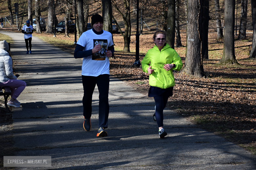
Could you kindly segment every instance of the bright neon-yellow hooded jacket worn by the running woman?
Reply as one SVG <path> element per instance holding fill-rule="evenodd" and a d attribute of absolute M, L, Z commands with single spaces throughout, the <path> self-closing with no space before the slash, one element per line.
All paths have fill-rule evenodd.
<path fill-rule="evenodd" d="M 161 51 L 155 45 L 148 50 L 145 57 L 141 61 L 142 70 L 148 73 L 149 63 L 153 73 L 149 75 L 149 85 L 166 89 L 175 85 L 174 75 L 172 70 L 180 71 L 183 64 L 179 54 L 170 47 L 167 43 Z M 164 64 L 175 64 L 176 67 L 166 71 Z"/>

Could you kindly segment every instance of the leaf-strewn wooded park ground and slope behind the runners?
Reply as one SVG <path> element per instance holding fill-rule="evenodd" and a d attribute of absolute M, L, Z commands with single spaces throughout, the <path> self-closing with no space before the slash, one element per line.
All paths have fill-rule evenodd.
<path fill-rule="evenodd" d="M 16 15 L 13 15 L 13 20 L 10 15 L 10 8 L 14 10 L 13 0 L 0 0 L 0 15 L 6 16 L 11 25 L 4 21 L 4 30 L 17 31 Z M 30 0 L 29 0 L 30 1 Z M 234 7 L 232 19 L 235 24 L 232 26 L 232 34 L 234 38 L 229 38 L 229 42 L 234 43 L 235 59 L 233 63 L 220 63 L 224 56 L 224 10 L 225 3 L 232 2 Z M 188 20 L 192 9 L 191 4 L 205 1 L 194 0 L 177 0 L 175 1 L 175 25 L 176 25 L 176 39 L 174 48 L 181 56 L 183 64 L 187 59 L 197 61 L 195 65 L 203 67 L 199 75 L 193 75 L 182 69 L 181 72 L 175 72 L 176 86 L 174 87 L 174 96 L 169 98 L 167 108 L 177 111 L 177 113 L 186 117 L 188 120 L 205 128 L 218 135 L 222 135 L 225 139 L 234 142 L 253 154 L 256 154 L 256 60 L 255 57 L 250 57 L 253 46 L 253 20 L 250 0 L 209 0 L 209 17 L 202 18 L 202 28 L 205 28 L 204 21 L 207 24 L 207 42 L 200 42 L 197 54 L 190 55 L 186 52 L 189 48 L 188 27 L 189 22 L 196 22 L 198 24 L 200 8 L 196 12 L 196 18 Z M 72 20 L 74 21 L 74 1 L 66 0 L 35 0 L 31 1 L 31 9 L 28 9 L 28 2 L 26 0 L 19 1 L 19 21 L 20 26 L 29 18 L 35 18 L 35 14 L 41 18 L 45 18 L 48 24 L 49 18 L 49 4 L 55 2 L 55 24 L 60 21 Z M 102 14 L 102 1 L 84 0 L 79 1 L 83 4 L 84 22 L 90 23 L 90 17 L 93 14 Z M 124 2 L 129 2 L 129 8 Z M 145 0 L 139 1 L 139 22 L 144 23 L 139 25 L 140 29 L 140 47 L 139 60 L 143 59 L 148 49 L 154 46 L 153 33 L 158 30 L 168 31 L 168 2 L 167 0 L 154 1 Z M 219 2 L 216 7 L 216 3 Z M 245 12 L 244 4 L 247 2 L 247 9 Z M 77 2 L 76 2 L 77 3 Z M 136 16 L 137 8 L 136 1 L 124 0 L 112 2 L 112 13 L 115 23 L 119 31 L 113 34 L 115 43 L 115 58 L 110 59 L 110 74 L 119 79 L 127 81 L 134 88 L 141 93 L 147 95 L 149 89 L 148 74 L 143 73 L 142 70 L 134 66 L 135 52 L 136 52 Z M 36 5 L 37 4 L 37 5 Z M 218 4 L 218 3 L 217 3 Z M 53 3 L 51 4 L 53 5 Z M 80 4 L 81 5 L 81 4 Z M 36 9 L 38 7 L 38 9 Z M 77 8 L 77 7 L 76 7 Z M 203 9 L 204 7 L 202 7 Z M 255 7 L 254 7 L 255 8 Z M 29 16 L 29 10 L 32 16 Z M 233 10 L 233 9 L 232 9 Z M 128 11 L 130 14 L 130 43 L 129 49 L 125 49 L 124 34 L 126 33 L 125 14 Z M 246 17 L 244 16 L 246 13 Z M 24 14 L 24 15 L 23 15 Z M 201 11 L 201 14 L 204 14 Z M 23 20 L 22 20 L 23 17 Z M 241 28 L 243 17 L 246 18 L 246 23 Z M 78 14 L 76 16 L 78 18 Z M 124 19 L 125 18 L 125 19 Z M 209 20 L 208 20 L 208 19 Z M 13 22 L 12 22 L 13 21 Z M 77 20 L 78 21 L 78 20 Z M 79 25 L 77 25 L 79 27 Z M 49 30 L 47 25 L 46 32 L 35 33 L 37 36 L 46 42 L 52 43 L 65 51 L 74 53 L 75 34 L 74 33 L 56 33 L 53 37 L 53 30 Z M 180 30 L 178 30 L 178 28 Z M 86 26 L 85 26 L 86 29 Z M 243 29 L 245 36 L 241 38 Z M 200 37 L 200 26 L 195 29 L 198 34 L 198 39 L 203 41 Z M 202 31 L 203 32 L 203 31 Z M 222 32 L 222 34 L 221 34 Z M 79 31 L 78 31 L 79 34 Z M 129 34 L 129 32 L 127 33 Z M 179 37 L 180 35 L 180 37 Z M 203 34 L 204 35 L 204 34 Z M 226 38 L 228 36 L 226 35 Z M 77 36 L 77 39 L 79 35 Z M 0 40 L 8 39 L 4 35 L 0 35 Z M 180 39 L 180 40 L 179 40 Z M 11 42 L 11 40 L 9 40 Z M 202 44 L 207 46 L 207 53 L 202 54 Z M 255 43 L 254 43 L 255 45 Z M 195 46 L 195 45 L 194 45 Z M 229 47 L 232 49 L 232 47 Z M 198 53 L 199 52 L 199 53 Z M 232 52 L 231 52 L 232 53 Z M 195 58 L 193 58 L 195 57 Z M 15 63 L 15 58 L 14 58 Z M 189 63 L 188 61 L 186 63 Z M 190 66 L 188 66 L 190 68 Z M 203 73 L 203 74 L 202 74 Z M 10 117 L 9 117 L 10 118 Z M 7 119 L 8 120 L 8 119 Z M 4 119 L 2 121 L 5 121 Z"/>

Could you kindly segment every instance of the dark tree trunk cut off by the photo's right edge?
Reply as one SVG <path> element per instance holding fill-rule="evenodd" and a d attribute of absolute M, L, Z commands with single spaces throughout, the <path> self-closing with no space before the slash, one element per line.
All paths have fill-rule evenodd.
<path fill-rule="evenodd" d="M 252 36 L 252 47 L 251 47 L 251 59 L 256 58 L 256 1 L 251 0 L 251 16 L 252 16 L 252 27 L 253 27 L 253 36 Z"/>

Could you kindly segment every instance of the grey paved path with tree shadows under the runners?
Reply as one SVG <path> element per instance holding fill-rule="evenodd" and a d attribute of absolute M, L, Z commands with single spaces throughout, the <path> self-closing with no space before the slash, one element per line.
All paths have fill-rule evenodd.
<path fill-rule="evenodd" d="M 154 100 L 114 77 L 110 78 L 108 136 L 96 137 L 97 88 L 92 130 L 87 132 L 82 125 L 82 60 L 34 36 L 32 54 L 26 55 L 22 33 L 0 33 L 14 40 L 14 68 L 27 83 L 18 97 L 22 107 L 12 109 L 15 156 L 52 156 L 51 168 L 15 169 L 256 169 L 251 153 L 172 110 L 164 110 L 168 135 L 159 139 L 152 118 Z"/>

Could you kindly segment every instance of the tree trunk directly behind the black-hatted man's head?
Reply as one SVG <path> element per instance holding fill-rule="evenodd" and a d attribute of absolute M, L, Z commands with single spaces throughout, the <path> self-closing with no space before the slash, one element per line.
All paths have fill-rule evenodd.
<path fill-rule="evenodd" d="M 103 30 L 112 34 L 112 3 L 111 0 L 101 0 L 102 18 L 104 21 Z"/>

